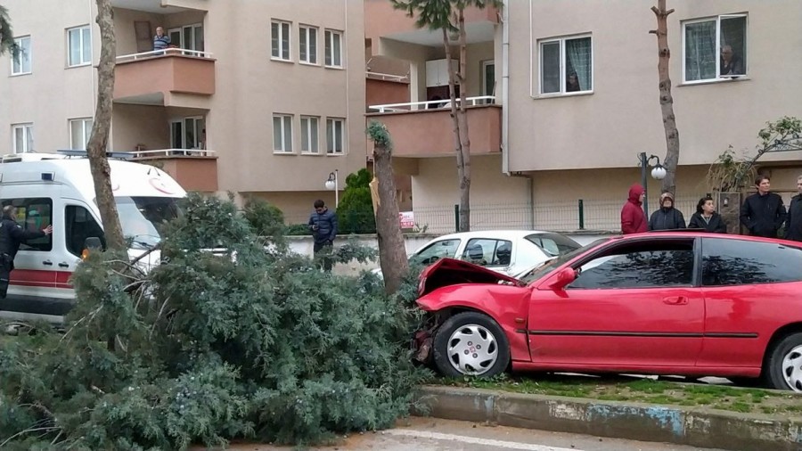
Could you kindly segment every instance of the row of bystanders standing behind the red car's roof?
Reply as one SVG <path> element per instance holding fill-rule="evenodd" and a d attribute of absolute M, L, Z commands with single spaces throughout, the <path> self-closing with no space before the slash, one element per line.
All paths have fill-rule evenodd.
<path fill-rule="evenodd" d="M 752 236 L 777 238 L 782 225 L 785 225 L 783 238 L 802 242 L 802 176 L 797 180 L 798 195 L 791 199 L 789 209 L 785 209 L 782 197 L 771 193 L 771 180 L 768 176 L 755 179 L 757 193 L 750 195 L 741 206 L 741 224 Z M 674 195 L 660 194 L 659 209 L 646 218 L 642 209 L 645 190 L 640 184 L 629 188 L 629 199 L 621 209 L 621 232 L 638 234 L 651 230 L 673 230 L 686 227 L 682 211 L 675 208 Z M 716 202 L 705 196 L 696 205 L 687 228 L 703 229 L 714 234 L 726 234 L 727 224 L 716 212 Z"/>

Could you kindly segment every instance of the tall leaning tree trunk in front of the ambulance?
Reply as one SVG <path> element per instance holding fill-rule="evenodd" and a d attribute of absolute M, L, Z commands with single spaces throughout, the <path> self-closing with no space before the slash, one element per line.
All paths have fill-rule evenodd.
<path fill-rule="evenodd" d="M 117 39 L 114 36 L 110 0 L 97 0 L 97 24 L 101 30 L 101 55 L 97 65 L 97 107 L 86 151 L 89 155 L 89 168 L 92 171 L 94 194 L 100 210 L 106 245 L 110 250 L 124 250 L 127 245 L 119 225 L 117 204 L 111 191 L 111 169 L 106 158 L 111 128 L 114 65 L 117 57 Z"/>

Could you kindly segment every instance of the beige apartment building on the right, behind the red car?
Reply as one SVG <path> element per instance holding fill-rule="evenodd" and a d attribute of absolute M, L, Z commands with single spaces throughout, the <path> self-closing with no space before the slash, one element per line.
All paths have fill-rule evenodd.
<path fill-rule="evenodd" d="M 471 223 L 576 229 L 582 200 L 585 228 L 614 229 L 628 186 L 640 182 L 638 154 L 666 153 L 657 38 L 649 33 L 656 2 L 504 4 L 497 12 L 466 12 L 462 88 L 469 97 L 492 95 L 490 104 L 469 103 Z M 802 116 L 795 75 L 802 70 L 802 35 L 788 31 L 802 19 L 802 3 L 672 0 L 668 6 L 675 9 L 668 41 L 681 143 L 677 195 L 689 210 L 710 192 L 705 175 L 728 146 L 754 154 L 766 121 Z M 425 103 L 443 85 L 441 37 L 416 29 L 382 0 L 366 0 L 365 15 L 371 53 L 411 67 L 409 106 L 374 104 L 368 116 L 385 121 L 396 137 L 397 168 L 412 177 L 416 220 L 421 211 L 435 221 L 459 199 L 448 112 Z M 740 69 L 728 73 L 723 50 L 735 53 Z M 782 152 L 760 160 L 786 201 L 802 173 L 800 158 L 802 152 Z M 659 182 L 650 180 L 649 188 L 654 206 Z M 504 219 L 508 210 L 525 211 L 531 221 Z"/>

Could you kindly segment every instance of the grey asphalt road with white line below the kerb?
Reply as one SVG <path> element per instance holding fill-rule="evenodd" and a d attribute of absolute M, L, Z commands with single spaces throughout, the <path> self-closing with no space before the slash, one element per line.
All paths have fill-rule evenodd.
<path fill-rule="evenodd" d="M 291 447 L 237 445 L 237 451 L 278 451 Z M 490 426 L 413 417 L 396 429 L 356 434 L 316 451 L 724 451 L 662 443 L 608 439 L 543 430 Z"/>

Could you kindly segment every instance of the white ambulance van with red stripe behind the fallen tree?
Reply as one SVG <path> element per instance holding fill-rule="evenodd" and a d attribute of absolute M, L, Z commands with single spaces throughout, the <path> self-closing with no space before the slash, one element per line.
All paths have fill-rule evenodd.
<path fill-rule="evenodd" d="M 136 257 L 160 242 L 156 225 L 176 217 L 184 189 L 166 172 L 115 158 L 110 152 L 111 189 L 123 234 Z M 20 246 L 0 317 L 61 323 L 75 300 L 70 276 L 81 261 L 86 238 L 103 241 L 89 160 L 83 151 L 23 153 L 0 159 L 0 202 L 17 208 L 17 222 L 31 230 L 53 225 L 53 234 Z M 152 252 L 145 265 L 159 261 Z"/>

